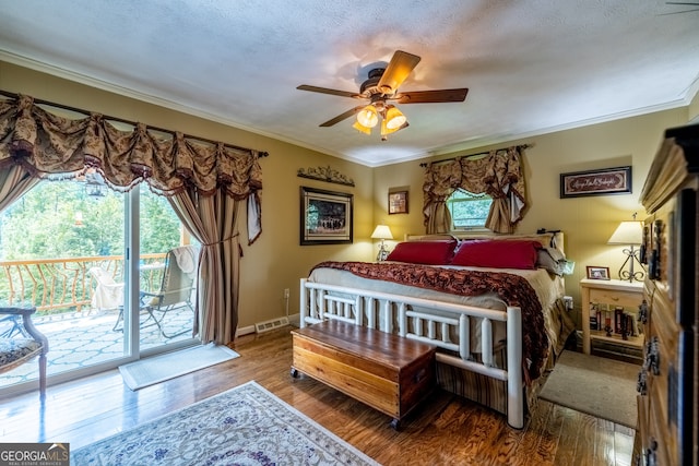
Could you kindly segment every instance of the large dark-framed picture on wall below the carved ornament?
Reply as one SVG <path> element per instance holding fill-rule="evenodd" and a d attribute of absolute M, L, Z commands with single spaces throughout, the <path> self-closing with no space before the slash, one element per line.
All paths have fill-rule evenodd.
<path fill-rule="evenodd" d="M 353 194 L 301 187 L 300 244 L 352 243 Z"/>

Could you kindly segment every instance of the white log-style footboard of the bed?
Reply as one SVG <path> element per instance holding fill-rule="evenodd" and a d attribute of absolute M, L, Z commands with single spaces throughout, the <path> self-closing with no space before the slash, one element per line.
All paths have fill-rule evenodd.
<path fill-rule="evenodd" d="M 524 427 L 522 381 L 522 316 L 520 308 L 506 311 L 431 301 L 386 292 L 300 280 L 301 327 L 337 320 L 394 333 L 435 345 L 437 361 L 507 382 L 508 423 Z M 474 358 L 471 326 L 481 325 L 481 358 Z M 507 368 L 494 366 L 493 323 L 507 325 Z M 479 361 L 478 361 L 479 360 Z"/>

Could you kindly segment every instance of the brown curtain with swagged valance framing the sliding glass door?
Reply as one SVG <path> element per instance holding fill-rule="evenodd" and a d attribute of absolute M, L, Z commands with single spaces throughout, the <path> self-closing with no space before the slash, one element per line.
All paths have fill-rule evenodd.
<path fill-rule="evenodd" d="M 64 118 L 25 95 L 0 100 L 0 206 L 5 208 L 38 179 L 75 178 L 88 168 L 98 170 L 112 190 L 127 192 L 145 182 L 167 196 L 202 243 L 194 327 L 204 330 L 203 343 L 226 344 L 235 336 L 239 244 L 234 230 L 247 201 L 248 243 L 262 231 L 261 154 L 205 144 L 180 132 L 163 138 L 143 123 L 123 131 L 99 113 Z M 200 303 L 206 304 L 201 313 Z"/>

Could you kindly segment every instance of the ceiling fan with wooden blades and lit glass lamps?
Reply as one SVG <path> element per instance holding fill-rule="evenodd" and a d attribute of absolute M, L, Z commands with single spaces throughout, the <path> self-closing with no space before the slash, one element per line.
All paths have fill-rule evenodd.
<path fill-rule="evenodd" d="M 369 71 L 368 79 L 362 83 L 358 93 L 329 89 L 307 84 L 301 84 L 296 88 L 368 100 L 368 104 L 359 105 L 344 113 L 340 113 L 335 118 L 321 123 L 320 127 L 332 127 L 356 115 L 357 118 L 353 128 L 365 134 L 371 134 L 371 128 L 376 127 L 381 120 L 381 141 L 386 141 L 389 134 L 408 126 L 407 118 L 392 104 L 393 101 L 398 104 L 437 104 L 463 101 L 466 98 L 467 88 L 399 92 L 399 86 L 419 63 L 419 60 L 420 58 L 416 55 L 396 50 L 388 67 Z"/>

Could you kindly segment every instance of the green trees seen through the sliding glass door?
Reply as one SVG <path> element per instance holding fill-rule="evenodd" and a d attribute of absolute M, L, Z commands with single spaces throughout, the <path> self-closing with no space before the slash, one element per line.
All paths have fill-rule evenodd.
<path fill-rule="evenodd" d="M 43 181 L 0 214 L 0 259 L 35 260 L 123 254 L 123 195 L 84 182 Z M 167 200 L 141 190 L 141 252 L 165 252 L 180 241 Z"/>

